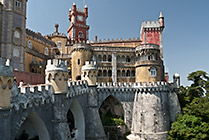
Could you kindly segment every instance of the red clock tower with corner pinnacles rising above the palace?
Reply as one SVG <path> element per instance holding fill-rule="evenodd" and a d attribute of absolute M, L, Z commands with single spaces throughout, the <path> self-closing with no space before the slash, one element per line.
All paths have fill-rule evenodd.
<path fill-rule="evenodd" d="M 72 44 L 75 42 L 86 42 L 88 38 L 89 26 L 86 25 L 86 19 L 88 17 L 88 8 L 84 7 L 84 10 L 77 9 L 76 4 L 73 3 L 73 9 L 69 9 L 70 27 L 68 28 L 68 38 Z"/>

